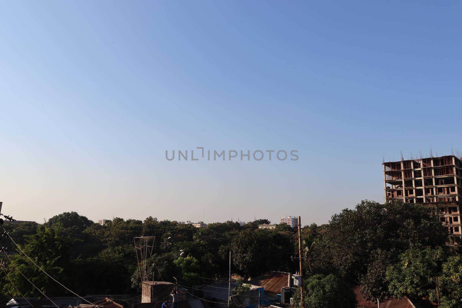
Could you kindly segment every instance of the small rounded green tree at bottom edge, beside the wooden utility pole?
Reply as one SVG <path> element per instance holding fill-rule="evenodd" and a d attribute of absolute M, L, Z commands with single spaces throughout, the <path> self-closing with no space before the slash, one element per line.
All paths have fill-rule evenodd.
<path fill-rule="evenodd" d="M 353 290 L 333 274 L 313 275 L 303 282 L 304 308 L 353 308 Z M 300 308 L 300 287 L 293 295 L 294 307 Z"/>

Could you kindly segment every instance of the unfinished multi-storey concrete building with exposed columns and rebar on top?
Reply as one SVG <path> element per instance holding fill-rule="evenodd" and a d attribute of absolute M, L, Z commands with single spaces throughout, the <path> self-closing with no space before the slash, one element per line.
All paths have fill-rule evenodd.
<path fill-rule="evenodd" d="M 386 202 L 401 200 L 437 206 L 451 234 L 461 242 L 462 160 L 454 155 L 383 163 Z"/>

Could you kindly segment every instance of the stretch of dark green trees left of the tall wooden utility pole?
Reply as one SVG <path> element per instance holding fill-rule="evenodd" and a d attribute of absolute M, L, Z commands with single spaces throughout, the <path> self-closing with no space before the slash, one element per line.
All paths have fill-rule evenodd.
<path fill-rule="evenodd" d="M 295 230 L 258 229 L 256 220 L 239 223 L 210 223 L 207 228 L 195 228 L 175 221 L 144 221 L 115 218 L 100 225 L 76 212 L 62 213 L 43 225 L 9 223 L 5 229 L 24 252 L 51 276 L 79 294 L 137 294 L 140 292 L 140 272 L 134 252 L 135 236 L 155 236 L 152 256 L 145 260 L 147 277 L 175 282 L 185 286 L 228 277 L 229 251 L 233 273 L 255 277 L 268 270 L 294 271 Z M 168 239 L 170 237 L 170 239 Z M 51 281 L 4 239 L 11 262 L 0 290 L 8 296 L 42 296 L 24 278 L 39 285 L 48 296 L 69 295 Z M 260 262 L 255 262 L 255 260 Z M 18 270 L 24 273 L 22 276 Z M 98 277 L 88 279 L 89 277 Z"/>

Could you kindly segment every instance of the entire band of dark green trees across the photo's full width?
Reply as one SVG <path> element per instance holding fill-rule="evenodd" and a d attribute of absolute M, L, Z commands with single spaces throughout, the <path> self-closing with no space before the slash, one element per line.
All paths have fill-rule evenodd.
<path fill-rule="evenodd" d="M 363 201 L 324 225 L 302 228 L 304 307 L 354 307 L 352 288 L 361 284 L 369 299 L 408 296 L 461 307 L 462 258 L 447 251 L 447 228 L 434 208 L 405 203 Z M 79 294 L 139 294 L 140 271 L 153 280 L 193 287 L 227 279 L 231 269 L 245 281 L 267 271 L 297 272 L 298 234 L 287 225 L 258 229 L 258 219 L 210 223 L 206 228 L 175 221 L 115 218 L 105 225 L 75 212 L 62 213 L 43 225 L 5 224 L 12 238 L 37 265 Z M 134 237 L 154 236 L 151 256 L 138 263 Z M 49 296 L 69 293 L 40 272 L 8 239 L 8 276 L 0 278 L 5 296 L 41 296 L 24 276 Z M 21 271 L 23 275 L 19 273 Z M 88 279 L 98 277 L 98 279 Z M 10 282 L 11 280 L 11 282 Z M 14 285 L 18 287 L 18 290 Z M 300 290 L 293 295 L 299 306 Z"/>

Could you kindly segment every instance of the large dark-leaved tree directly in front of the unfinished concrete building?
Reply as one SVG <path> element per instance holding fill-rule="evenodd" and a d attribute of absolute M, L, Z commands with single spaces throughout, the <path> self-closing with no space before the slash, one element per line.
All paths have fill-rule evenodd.
<path fill-rule="evenodd" d="M 386 265 L 395 263 L 399 254 L 409 248 L 444 244 L 447 228 L 438 218 L 435 209 L 427 206 L 362 201 L 354 210 L 332 216 L 322 241 L 316 244 L 315 272 L 333 268 L 349 281 L 362 280 L 366 296 L 380 297 L 387 290 L 386 284 L 380 283 Z M 376 255 L 380 255 L 382 266 Z"/>

